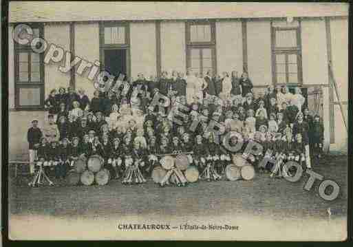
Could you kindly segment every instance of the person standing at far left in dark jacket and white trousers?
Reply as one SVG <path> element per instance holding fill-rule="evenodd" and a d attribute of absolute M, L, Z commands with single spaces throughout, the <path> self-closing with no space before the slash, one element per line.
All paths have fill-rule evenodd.
<path fill-rule="evenodd" d="M 30 156 L 30 173 L 34 173 L 34 160 L 36 160 L 36 154 L 37 154 L 37 148 L 39 146 L 39 143 L 41 142 L 41 138 L 43 136 L 43 133 L 38 125 L 38 120 L 34 119 L 32 120 L 32 127 L 28 129 L 27 132 L 27 140 L 28 140 L 28 154 Z"/>

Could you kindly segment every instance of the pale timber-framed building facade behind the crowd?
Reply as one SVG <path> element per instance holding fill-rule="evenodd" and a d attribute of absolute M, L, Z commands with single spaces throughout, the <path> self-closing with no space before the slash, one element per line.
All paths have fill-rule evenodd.
<path fill-rule="evenodd" d="M 78 75 L 76 66 L 63 73 L 58 66 L 65 65 L 65 59 L 47 64 L 45 54 L 14 43 L 12 33 L 19 23 L 27 23 L 34 36 L 89 63 L 99 61 L 111 74 L 123 72 L 136 78 L 140 72 L 149 77 L 186 68 L 211 69 L 215 74 L 236 70 L 239 76 L 248 72 L 255 91 L 268 85 L 301 87 L 310 111 L 323 118 L 325 149 L 344 151 L 347 15 L 347 5 L 328 3 L 295 7 L 290 3 L 12 2 L 9 157 L 26 155 L 28 127 L 33 118 L 39 120 L 39 127 L 45 122 L 43 103 L 51 89 L 72 85 L 84 88 L 90 97 L 94 92 L 88 69 Z M 343 116 L 332 80 L 338 85 Z"/>

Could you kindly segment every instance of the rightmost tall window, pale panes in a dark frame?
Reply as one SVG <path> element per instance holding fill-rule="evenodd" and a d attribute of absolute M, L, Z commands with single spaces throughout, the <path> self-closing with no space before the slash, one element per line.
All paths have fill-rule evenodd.
<path fill-rule="evenodd" d="M 302 84 L 300 22 L 286 28 L 272 23 L 272 78 L 275 84 Z"/>

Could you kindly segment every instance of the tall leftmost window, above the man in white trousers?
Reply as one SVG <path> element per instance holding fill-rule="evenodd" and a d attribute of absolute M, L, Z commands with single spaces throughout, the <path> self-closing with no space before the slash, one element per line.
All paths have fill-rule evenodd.
<path fill-rule="evenodd" d="M 34 37 L 43 38 L 43 27 L 32 26 Z M 14 44 L 15 107 L 43 109 L 43 54 L 33 52 L 30 45 Z"/>

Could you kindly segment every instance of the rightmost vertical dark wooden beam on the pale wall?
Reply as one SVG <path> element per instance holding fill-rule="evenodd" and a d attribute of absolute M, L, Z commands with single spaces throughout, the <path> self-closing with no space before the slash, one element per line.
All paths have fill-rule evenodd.
<path fill-rule="evenodd" d="M 328 56 L 328 80 L 329 80 L 329 111 L 330 111 L 330 143 L 334 143 L 334 89 L 330 76 L 330 63 L 332 64 L 332 43 L 331 43 L 331 27 L 330 17 L 325 17 L 325 31 L 326 31 L 326 49 Z"/>

